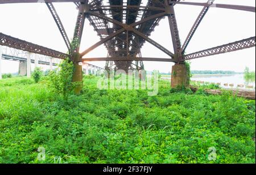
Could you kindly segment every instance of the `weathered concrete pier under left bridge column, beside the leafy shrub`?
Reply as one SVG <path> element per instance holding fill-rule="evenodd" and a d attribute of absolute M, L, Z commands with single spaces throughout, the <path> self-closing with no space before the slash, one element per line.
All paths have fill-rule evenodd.
<path fill-rule="evenodd" d="M 76 82 L 76 87 L 75 87 L 75 93 L 77 95 L 80 94 L 80 92 L 82 91 L 82 66 L 79 65 L 79 63 L 77 63 L 76 60 L 79 60 L 80 55 L 76 54 L 75 55 L 75 59 L 74 59 L 74 72 L 73 72 L 73 79 L 72 82 Z"/>

